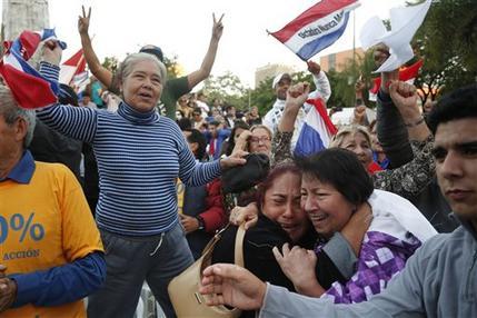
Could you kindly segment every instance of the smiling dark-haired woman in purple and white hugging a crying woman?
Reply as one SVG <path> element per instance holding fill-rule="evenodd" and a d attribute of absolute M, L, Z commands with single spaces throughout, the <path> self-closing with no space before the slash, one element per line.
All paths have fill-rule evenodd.
<path fill-rule="evenodd" d="M 371 178 L 351 151 L 327 149 L 296 162 L 302 171 L 301 207 L 319 239 L 315 252 L 284 246 L 284 255 L 278 249 L 275 254 L 298 292 L 329 297 L 337 304 L 368 300 L 386 288 L 424 241 L 437 233 L 409 201 L 374 190 Z M 367 210 L 362 222 L 368 228 L 357 254 L 356 272 L 341 281 L 320 279 L 315 267 L 322 247 L 362 209 Z M 324 281 L 329 279 L 330 286 Z"/>

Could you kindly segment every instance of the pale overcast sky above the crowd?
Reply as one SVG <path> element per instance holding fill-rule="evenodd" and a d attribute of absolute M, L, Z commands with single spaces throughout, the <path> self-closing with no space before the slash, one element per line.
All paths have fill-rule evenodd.
<path fill-rule="evenodd" d="M 267 34 L 277 31 L 315 0 L 49 0 L 50 24 L 69 49 L 63 59 L 80 48 L 77 31 L 81 4 L 92 7 L 90 34 L 100 60 L 108 56 L 123 59 L 147 43 L 162 48 L 166 56 L 178 56 L 186 72 L 197 69 L 207 50 L 212 12 L 225 13 L 223 36 L 212 74 L 229 70 L 242 82 L 254 86 L 255 70 L 267 63 L 295 64 L 301 60 L 288 48 Z M 361 26 L 372 16 L 387 18 L 389 9 L 405 0 L 361 0 L 356 9 L 356 46 Z M 0 4 L 1 6 L 1 4 Z M 352 48 L 352 19 L 345 34 L 319 56 Z"/>

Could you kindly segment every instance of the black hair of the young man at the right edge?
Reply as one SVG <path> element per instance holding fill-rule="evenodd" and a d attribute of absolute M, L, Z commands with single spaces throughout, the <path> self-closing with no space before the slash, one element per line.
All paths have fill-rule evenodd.
<path fill-rule="evenodd" d="M 459 88 L 444 96 L 429 112 L 427 125 L 436 133 L 439 123 L 451 120 L 477 118 L 477 85 Z"/>

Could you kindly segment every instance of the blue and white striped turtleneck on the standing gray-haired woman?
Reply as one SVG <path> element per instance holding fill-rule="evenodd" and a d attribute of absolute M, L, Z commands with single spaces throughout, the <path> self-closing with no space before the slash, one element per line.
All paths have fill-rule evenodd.
<path fill-rule="evenodd" d="M 40 72 L 58 78 L 58 68 Z M 179 127 L 156 110 L 117 112 L 54 105 L 38 111 L 46 125 L 92 143 L 98 161 L 98 227 L 127 236 L 151 236 L 178 222 L 176 178 L 201 186 L 220 176 L 218 160 L 196 162 Z"/>

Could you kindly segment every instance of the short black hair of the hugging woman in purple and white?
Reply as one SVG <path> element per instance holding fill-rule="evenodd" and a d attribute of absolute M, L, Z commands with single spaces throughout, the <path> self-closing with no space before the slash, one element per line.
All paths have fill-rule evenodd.
<path fill-rule="evenodd" d="M 330 148 L 310 157 L 296 157 L 295 163 L 304 175 L 331 185 L 352 205 L 366 202 L 374 191 L 362 163 L 347 149 Z"/>

